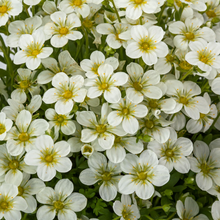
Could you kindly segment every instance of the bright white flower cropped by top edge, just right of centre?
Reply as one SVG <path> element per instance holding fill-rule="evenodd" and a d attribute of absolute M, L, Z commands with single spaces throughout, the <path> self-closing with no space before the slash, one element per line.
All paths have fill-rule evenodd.
<path fill-rule="evenodd" d="M 119 8 L 126 8 L 126 16 L 136 20 L 142 13 L 152 14 L 156 12 L 158 3 L 155 0 L 115 0 Z"/>

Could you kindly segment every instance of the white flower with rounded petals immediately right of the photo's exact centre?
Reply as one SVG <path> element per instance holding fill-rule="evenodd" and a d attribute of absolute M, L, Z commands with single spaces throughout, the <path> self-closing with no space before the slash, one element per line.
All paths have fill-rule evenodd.
<path fill-rule="evenodd" d="M 116 109 L 108 115 L 108 123 L 117 126 L 122 123 L 126 133 L 134 134 L 139 129 L 137 118 L 143 118 L 147 115 L 148 109 L 145 105 L 135 105 L 130 100 L 124 98 L 116 104 L 111 104 L 111 108 Z"/>

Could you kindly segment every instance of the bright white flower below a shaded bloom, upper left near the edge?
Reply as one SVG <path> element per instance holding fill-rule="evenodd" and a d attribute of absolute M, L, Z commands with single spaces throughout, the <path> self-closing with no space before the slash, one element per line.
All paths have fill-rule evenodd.
<path fill-rule="evenodd" d="M 35 70 L 41 64 L 41 59 L 47 58 L 53 52 L 51 47 L 44 47 L 45 35 L 42 29 L 36 30 L 32 35 L 23 34 L 19 40 L 22 49 L 14 56 L 15 64 L 26 63 L 27 68 Z"/>

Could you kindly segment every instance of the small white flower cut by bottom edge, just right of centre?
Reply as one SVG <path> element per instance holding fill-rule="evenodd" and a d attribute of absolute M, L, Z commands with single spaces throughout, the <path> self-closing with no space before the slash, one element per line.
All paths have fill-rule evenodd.
<path fill-rule="evenodd" d="M 121 202 L 116 200 L 113 203 L 113 210 L 116 215 L 121 216 L 120 220 L 139 219 L 140 213 L 136 204 L 131 204 L 131 198 L 127 195 L 121 196 Z"/>

